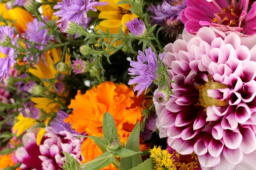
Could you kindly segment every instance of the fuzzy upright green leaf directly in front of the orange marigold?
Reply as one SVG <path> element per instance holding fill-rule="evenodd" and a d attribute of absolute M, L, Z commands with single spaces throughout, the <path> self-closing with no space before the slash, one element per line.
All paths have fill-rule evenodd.
<path fill-rule="evenodd" d="M 105 139 L 109 143 L 112 143 L 114 140 L 119 141 L 115 120 L 113 119 L 113 116 L 108 112 L 106 112 L 103 116 L 102 130 Z"/>

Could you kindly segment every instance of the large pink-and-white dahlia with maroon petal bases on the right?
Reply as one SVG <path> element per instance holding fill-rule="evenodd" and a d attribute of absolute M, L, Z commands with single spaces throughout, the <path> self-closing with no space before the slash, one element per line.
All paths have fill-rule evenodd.
<path fill-rule="evenodd" d="M 203 170 L 256 167 L 256 37 L 212 27 L 165 47 L 174 95 L 156 103 L 160 137 Z M 241 165 L 242 166 L 242 165 Z"/>

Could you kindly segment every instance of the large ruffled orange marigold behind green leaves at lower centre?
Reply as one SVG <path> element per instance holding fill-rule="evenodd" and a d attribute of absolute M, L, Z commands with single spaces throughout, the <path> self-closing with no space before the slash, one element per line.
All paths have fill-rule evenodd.
<path fill-rule="evenodd" d="M 87 132 L 88 135 L 99 137 L 103 136 L 103 115 L 109 112 L 116 122 L 120 142 L 126 143 L 137 121 L 141 119 L 143 102 L 145 102 L 144 96 L 135 96 L 131 88 L 126 85 L 104 82 L 85 94 L 78 91 L 75 99 L 71 100 L 68 106 L 73 108 L 73 113 L 65 121 L 70 122 L 80 133 Z M 140 147 L 142 150 L 147 149 L 145 144 L 141 144 Z M 102 154 L 102 151 L 91 139 L 86 139 L 81 146 L 81 153 L 84 162 L 87 162 Z M 111 164 L 103 169 L 116 168 Z"/>

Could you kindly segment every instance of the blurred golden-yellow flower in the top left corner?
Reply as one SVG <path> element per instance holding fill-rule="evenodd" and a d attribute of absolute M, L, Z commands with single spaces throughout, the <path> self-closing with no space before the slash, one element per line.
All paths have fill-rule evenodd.
<path fill-rule="evenodd" d="M 27 28 L 27 23 L 31 22 L 32 15 L 21 7 L 15 7 L 13 9 L 7 9 L 5 3 L 0 3 L 0 14 L 3 14 L 3 18 L 10 21 L 15 21 L 14 26 L 17 28 L 19 33 L 23 33 L 24 29 Z M 0 25 L 4 23 L 0 22 Z M 10 23 L 11 24 L 11 23 Z"/>

